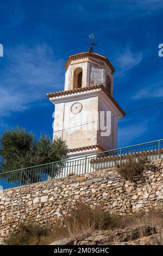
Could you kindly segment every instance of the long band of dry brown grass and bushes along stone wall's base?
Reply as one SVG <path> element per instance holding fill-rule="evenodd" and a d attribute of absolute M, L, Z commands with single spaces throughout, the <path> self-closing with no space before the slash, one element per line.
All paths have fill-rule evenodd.
<path fill-rule="evenodd" d="M 110 215 L 100 206 L 92 209 L 89 205 L 78 202 L 69 210 L 63 223 L 56 223 L 52 227 L 30 223 L 20 224 L 4 243 L 7 245 L 48 245 L 66 237 L 72 240 L 85 239 L 95 230 L 132 228 L 141 224 L 155 227 L 160 232 L 163 229 L 162 223 L 163 214 L 160 210 L 151 210 L 147 215 L 140 213 L 120 217 Z"/>

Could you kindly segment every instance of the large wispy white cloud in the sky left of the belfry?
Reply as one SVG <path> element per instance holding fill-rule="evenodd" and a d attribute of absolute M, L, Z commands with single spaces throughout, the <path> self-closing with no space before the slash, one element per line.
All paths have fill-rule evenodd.
<path fill-rule="evenodd" d="M 32 103 L 43 100 L 47 92 L 63 88 L 62 59 L 56 60 L 51 47 L 24 45 L 5 50 L 6 65 L 1 70 L 0 116 L 24 111 Z"/>

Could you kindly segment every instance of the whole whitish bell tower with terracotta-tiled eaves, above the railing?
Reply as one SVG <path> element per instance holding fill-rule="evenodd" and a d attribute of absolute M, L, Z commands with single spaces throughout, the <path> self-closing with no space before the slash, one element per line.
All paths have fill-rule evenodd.
<path fill-rule="evenodd" d="M 125 113 L 113 97 L 114 67 L 89 51 L 69 56 L 65 69 L 64 91 L 47 94 L 55 105 L 53 138 L 66 140 L 70 156 L 117 148 Z"/>

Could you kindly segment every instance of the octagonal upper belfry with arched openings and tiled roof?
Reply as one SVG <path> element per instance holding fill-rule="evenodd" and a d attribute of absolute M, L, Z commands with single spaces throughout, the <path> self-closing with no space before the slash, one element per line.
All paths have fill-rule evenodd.
<path fill-rule="evenodd" d="M 113 94 L 114 67 L 108 59 L 94 52 L 82 52 L 68 57 L 65 65 L 65 90 L 104 84 Z"/>

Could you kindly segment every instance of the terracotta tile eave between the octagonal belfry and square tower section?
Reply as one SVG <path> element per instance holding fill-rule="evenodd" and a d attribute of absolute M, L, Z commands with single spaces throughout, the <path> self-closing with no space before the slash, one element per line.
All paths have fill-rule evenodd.
<path fill-rule="evenodd" d="M 118 105 L 118 103 L 116 102 L 114 97 L 112 97 L 111 94 L 108 92 L 108 90 L 106 90 L 106 88 L 104 87 L 103 84 L 97 84 L 96 86 L 87 86 L 87 87 L 82 87 L 82 88 L 77 88 L 77 89 L 72 89 L 72 90 L 63 90 L 63 91 L 57 92 L 57 93 L 47 93 L 47 97 L 49 99 L 49 98 L 55 97 L 55 96 L 66 95 L 66 94 L 71 94 L 71 93 L 76 93 L 76 92 L 85 92 L 86 90 L 92 90 L 92 89 L 98 89 L 98 88 L 102 88 L 102 90 L 105 92 L 106 95 L 108 95 L 109 99 L 116 105 L 116 107 L 122 113 L 123 116 L 126 115 L 125 112 L 120 107 L 120 105 Z"/>

